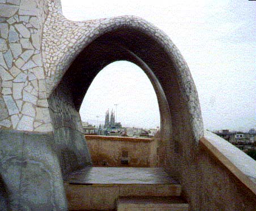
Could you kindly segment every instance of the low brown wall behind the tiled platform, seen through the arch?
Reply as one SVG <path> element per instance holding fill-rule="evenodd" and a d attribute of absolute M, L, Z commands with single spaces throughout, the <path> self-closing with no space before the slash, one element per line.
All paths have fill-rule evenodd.
<path fill-rule="evenodd" d="M 149 138 L 86 135 L 93 166 L 157 167 L 157 141 Z"/>

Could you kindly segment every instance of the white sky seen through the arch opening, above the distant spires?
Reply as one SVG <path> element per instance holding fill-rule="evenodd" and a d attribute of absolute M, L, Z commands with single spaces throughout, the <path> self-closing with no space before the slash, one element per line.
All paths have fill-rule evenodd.
<path fill-rule="evenodd" d="M 82 122 L 99 129 L 105 125 L 108 109 L 110 116 L 113 112 L 115 122 L 123 127 L 160 127 L 159 106 L 152 83 L 138 65 L 129 61 L 115 61 L 97 74 L 79 113 Z"/>

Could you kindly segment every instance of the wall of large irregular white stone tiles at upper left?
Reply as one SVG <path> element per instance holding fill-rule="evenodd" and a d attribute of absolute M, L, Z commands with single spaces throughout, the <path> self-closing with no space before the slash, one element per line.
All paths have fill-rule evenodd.
<path fill-rule="evenodd" d="M 52 131 L 42 63 L 45 1 L 0 3 L 0 128 Z"/>

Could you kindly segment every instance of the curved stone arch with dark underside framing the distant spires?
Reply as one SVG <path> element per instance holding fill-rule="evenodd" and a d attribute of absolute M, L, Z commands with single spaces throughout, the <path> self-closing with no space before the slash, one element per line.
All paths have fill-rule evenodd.
<path fill-rule="evenodd" d="M 132 25 L 121 24 L 101 33 L 89 45 L 80 43 L 84 48 L 79 53 L 76 52 L 75 59 L 66 72 L 63 70 L 65 74 L 49 96 L 50 115 L 57 144 L 65 139 L 65 142 L 74 147 L 73 150 L 63 149 L 65 153 L 59 153 L 63 154 L 61 165 L 64 172 L 79 168 L 86 162 L 87 165 L 90 163 L 89 152 L 86 143 L 84 144 L 79 108 L 93 78 L 114 61 L 131 61 L 150 78 L 160 109 L 160 163 L 165 168 L 170 168 L 167 169 L 168 172 L 171 171 L 172 175 L 178 174 L 175 170 L 175 159 L 182 156 L 182 153 L 190 154 L 191 146 L 195 146 L 203 134 L 197 91 L 189 69 L 176 47 L 172 46 L 172 51 L 167 51 L 168 43 L 156 38 L 157 36 L 150 36 L 148 29 Z M 74 137 L 76 142 L 72 143 Z M 87 152 L 82 152 L 83 148 Z M 65 159 L 67 151 L 75 152 L 72 157 L 78 160 L 72 162 Z M 78 163 L 78 166 L 69 163 Z"/>

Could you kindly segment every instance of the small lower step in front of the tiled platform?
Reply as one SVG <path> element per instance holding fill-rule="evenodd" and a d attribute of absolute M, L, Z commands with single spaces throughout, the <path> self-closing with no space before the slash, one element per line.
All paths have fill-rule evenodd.
<path fill-rule="evenodd" d="M 117 211 L 188 211 L 189 204 L 180 197 L 122 197 Z"/>

